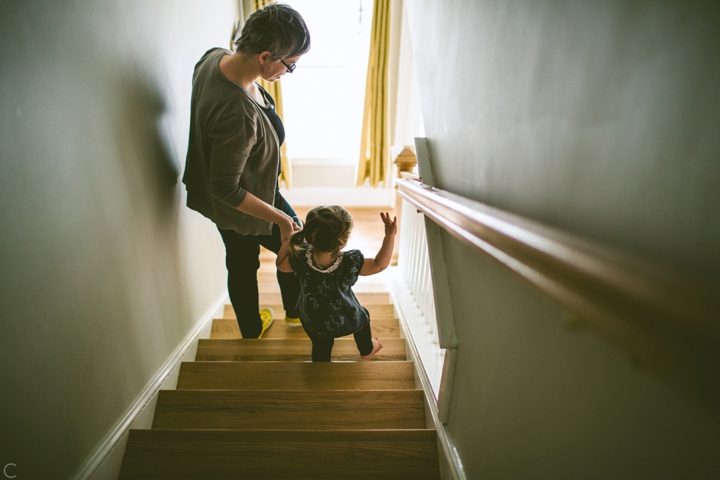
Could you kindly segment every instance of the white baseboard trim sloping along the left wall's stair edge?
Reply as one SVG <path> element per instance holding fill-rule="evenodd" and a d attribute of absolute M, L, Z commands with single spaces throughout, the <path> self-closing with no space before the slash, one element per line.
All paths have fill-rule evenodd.
<path fill-rule="evenodd" d="M 208 325 L 212 324 L 213 318 L 226 303 L 227 298 L 227 292 L 223 292 L 223 294 L 215 300 L 212 306 L 205 312 L 192 330 L 190 330 L 185 339 L 168 357 L 155 376 L 150 380 L 150 382 L 148 382 L 140 395 L 138 395 L 117 423 L 100 441 L 92 454 L 73 476 L 74 479 L 90 480 L 94 478 L 103 463 L 111 456 L 113 451 L 121 445 L 123 439 L 128 435 L 130 428 L 143 414 L 147 406 L 150 404 L 154 405 L 154 400 L 157 397 L 158 392 L 162 390 L 162 387 L 168 379 L 170 379 L 173 373 L 175 373 L 176 369 L 183 361 L 183 357 L 185 357 L 185 355 L 191 350 L 193 345 L 197 344 L 197 340 L 200 338 L 202 332 L 208 327 Z M 117 478 L 117 475 L 115 475 L 115 478 Z"/>

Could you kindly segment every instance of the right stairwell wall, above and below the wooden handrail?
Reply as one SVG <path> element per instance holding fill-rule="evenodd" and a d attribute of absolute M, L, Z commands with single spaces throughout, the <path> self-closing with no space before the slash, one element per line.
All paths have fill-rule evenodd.
<path fill-rule="evenodd" d="M 720 279 L 717 2 L 406 0 L 440 188 Z M 445 236 L 468 478 L 717 478 L 720 422 Z"/>

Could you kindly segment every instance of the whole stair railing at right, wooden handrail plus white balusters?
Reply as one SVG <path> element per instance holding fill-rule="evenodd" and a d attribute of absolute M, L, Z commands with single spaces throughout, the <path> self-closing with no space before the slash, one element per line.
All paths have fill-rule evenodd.
<path fill-rule="evenodd" d="M 399 266 L 416 298 L 425 299 L 426 318 L 436 312 L 438 344 L 451 353 L 443 369 L 446 388 L 441 382 L 438 396 L 441 418 L 447 417 L 458 347 L 441 230 L 558 302 L 570 328 L 597 331 L 625 350 L 635 365 L 703 403 L 720 406 L 720 286 L 435 188 L 426 139 L 416 139 L 416 152 L 420 179 L 397 180 L 404 204 Z M 422 234 L 407 231 L 421 230 L 414 211 L 424 214 L 427 249 Z M 422 274 L 427 265 L 430 287 Z"/>

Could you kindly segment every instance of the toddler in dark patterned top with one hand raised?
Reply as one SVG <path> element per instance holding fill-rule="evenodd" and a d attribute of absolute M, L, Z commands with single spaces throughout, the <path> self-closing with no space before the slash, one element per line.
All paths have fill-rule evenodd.
<path fill-rule="evenodd" d="M 381 213 L 385 238 L 375 258 L 360 250 L 343 252 L 353 227 L 350 214 L 337 205 L 310 210 L 302 230 L 282 244 L 276 265 L 295 272 L 300 280 L 298 311 L 312 341 L 313 362 L 329 362 L 335 339 L 353 334 L 363 360 L 375 355 L 382 342 L 372 336 L 370 315 L 360 305 L 352 286 L 359 275 L 382 272 L 390 264 L 397 219 Z"/>

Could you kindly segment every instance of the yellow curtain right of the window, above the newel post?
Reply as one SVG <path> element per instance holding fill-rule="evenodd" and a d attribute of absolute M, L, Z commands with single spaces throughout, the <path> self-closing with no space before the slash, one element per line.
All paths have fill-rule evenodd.
<path fill-rule="evenodd" d="M 380 182 L 387 184 L 390 170 L 389 54 L 390 0 L 374 0 L 360 161 L 355 177 L 357 185 L 364 184 L 365 179 L 370 179 L 373 187 L 377 187 Z"/>

